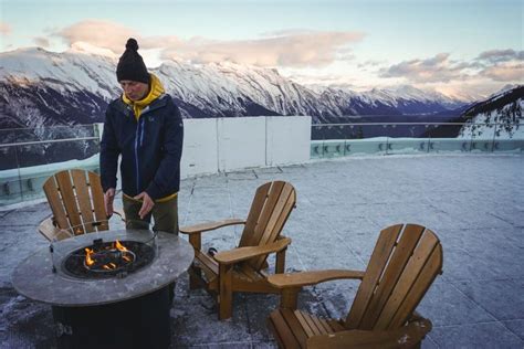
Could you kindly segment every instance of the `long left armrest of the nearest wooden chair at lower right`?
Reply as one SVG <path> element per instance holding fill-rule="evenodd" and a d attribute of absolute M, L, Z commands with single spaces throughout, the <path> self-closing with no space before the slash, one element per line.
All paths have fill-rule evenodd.
<path fill-rule="evenodd" d="M 345 269 L 325 269 L 292 274 L 275 274 L 268 277 L 268 282 L 277 288 L 302 287 L 316 285 L 332 279 L 357 278 L 363 279 L 364 272 Z"/>

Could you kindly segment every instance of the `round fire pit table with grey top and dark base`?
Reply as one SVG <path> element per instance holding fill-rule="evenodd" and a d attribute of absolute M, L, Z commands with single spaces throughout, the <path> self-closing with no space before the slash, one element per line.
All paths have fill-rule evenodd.
<path fill-rule="evenodd" d="M 167 348 L 170 287 L 192 260 L 191 245 L 174 234 L 93 232 L 36 251 L 12 283 L 52 306 L 59 348 Z"/>

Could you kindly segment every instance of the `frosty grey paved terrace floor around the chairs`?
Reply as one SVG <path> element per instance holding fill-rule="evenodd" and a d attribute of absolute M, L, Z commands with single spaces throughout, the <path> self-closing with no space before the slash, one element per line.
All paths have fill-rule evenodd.
<path fill-rule="evenodd" d="M 363 269 L 380 229 L 412 222 L 443 245 L 443 274 L 418 310 L 433 322 L 423 348 L 524 347 L 524 155 L 431 155 L 338 159 L 252 169 L 182 181 L 182 225 L 245 216 L 255 188 L 292 182 L 297 207 L 284 228 L 293 242 L 286 269 Z M 13 267 L 46 245 L 36 225 L 46 203 L 0 211 L 0 348 L 53 348 L 50 307 L 19 296 Z M 205 235 L 219 251 L 240 229 Z M 270 261 L 272 262 L 272 261 Z M 344 317 L 358 284 L 329 282 L 301 294 L 303 308 Z M 217 319 L 216 304 L 177 283 L 172 348 L 271 348 L 265 318 L 274 295 L 235 295 L 233 318 Z"/>

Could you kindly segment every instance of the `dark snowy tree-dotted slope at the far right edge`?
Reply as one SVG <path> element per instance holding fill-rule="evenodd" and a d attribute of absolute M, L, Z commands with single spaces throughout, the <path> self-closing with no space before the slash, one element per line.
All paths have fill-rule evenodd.
<path fill-rule="evenodd" d="M 462 114 L 461 117 L 468 125 L 462 127 L 460 137 L 524 138 L 523 110 L 524 85 L 513 88 L 505 86 L 497 94 L 474 104 Z"/>

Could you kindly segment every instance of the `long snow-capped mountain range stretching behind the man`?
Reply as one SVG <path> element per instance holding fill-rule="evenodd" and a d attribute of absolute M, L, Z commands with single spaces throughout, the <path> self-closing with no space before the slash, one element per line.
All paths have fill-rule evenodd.
<path fill-rule="evenodd" d="M 120 91 L 115 57 L 24 49 L 0 53 L 0 128 L 102 121 L 105 107 Z M 447 112 L 463 104 L 410 86 L 363 93 L 310 88 L 276 70 L 228 62 L 170 61 L 151 72 L 187 118 L 311 115 L 314 123 L 333 123 L 350 115 Z"/>

